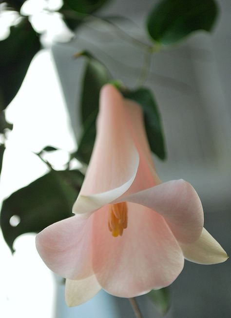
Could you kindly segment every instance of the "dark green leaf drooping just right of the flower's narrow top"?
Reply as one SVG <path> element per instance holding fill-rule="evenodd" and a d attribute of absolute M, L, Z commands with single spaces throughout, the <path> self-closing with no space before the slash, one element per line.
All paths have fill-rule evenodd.
<path fill-rule="evenodd" d="M 124 97 L 137 102 L 143 109 L 146 133 L 151 150 L 162 160 L 166 158 L 162 122 L 153 93 L 148 88 L 123 92 Z"/>

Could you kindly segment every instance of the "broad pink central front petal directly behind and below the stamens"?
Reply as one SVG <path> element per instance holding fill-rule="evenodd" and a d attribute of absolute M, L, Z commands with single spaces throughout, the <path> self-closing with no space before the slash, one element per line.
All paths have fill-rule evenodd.
<path fill-rule="evenodd" d="M 107 206 L 93 217 L 93 269 L 108 293 L 135 297 L 171 284 L 180 274 L 182 251 L 158 213 L 129 203 L 128 227 L 118 237 L 109 231 Z"/>

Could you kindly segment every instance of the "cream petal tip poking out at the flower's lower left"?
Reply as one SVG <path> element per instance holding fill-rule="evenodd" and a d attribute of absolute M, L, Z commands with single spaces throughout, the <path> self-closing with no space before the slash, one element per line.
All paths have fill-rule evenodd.
<path fill-rule="evenodd" d="M 66 279 L 65 300 L 67 306 L 74 307 L 94 297 L 101 289 L 96 276 L 81 280 Z"/>

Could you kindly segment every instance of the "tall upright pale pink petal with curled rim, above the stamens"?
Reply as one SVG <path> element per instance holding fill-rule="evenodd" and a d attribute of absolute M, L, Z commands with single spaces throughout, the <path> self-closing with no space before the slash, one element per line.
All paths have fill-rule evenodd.
<path fill-rule="evenodd" d="M 92 212 L 115 200 L 133 183 L 138 165 L 123 98 L 113 85 L 105 85 L 93 154 L 73 212 Z"/>

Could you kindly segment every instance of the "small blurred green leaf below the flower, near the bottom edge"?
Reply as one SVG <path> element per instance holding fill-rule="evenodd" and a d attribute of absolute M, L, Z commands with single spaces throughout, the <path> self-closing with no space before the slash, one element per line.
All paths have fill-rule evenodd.
<path fill-rule="evenodd" d="M 161 314 L 166 314 L 171 306 L 171 294 L 168 287 L 152 290 L 147 294 Z"/>

